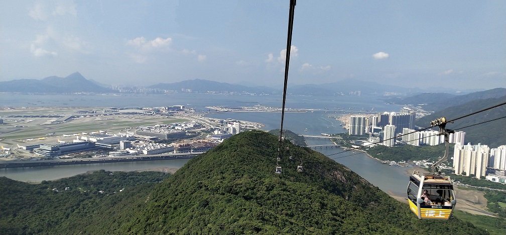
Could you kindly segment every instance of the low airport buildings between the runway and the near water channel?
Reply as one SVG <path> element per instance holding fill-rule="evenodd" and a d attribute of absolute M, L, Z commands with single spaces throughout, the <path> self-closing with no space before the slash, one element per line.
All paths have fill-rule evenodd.
<path fill-rule="evenodd" d="M 56 144 L 41 144 L 19 146 L 24 150 L 33 151 L 34 154 L 48 158 L 72 153 L 109 149 L 108 154 L 99 156 L 124 156 L 139 154 L 163 154 L 203 152 L 216 147 L 221 141 L 241 131 L 240 122 L 236 120 L 221 120 L 220 127 L 216 127 L 214 134 L 205 140 L 186 140 L 187 131 L 203 128 L 198 122 L 173 123 L 155 125 L 152 127 L 139 127 L 135 132 L 107 134 L 93 133 L 77 135 L 72 142 L 59 141 Z M 171 144 L 155 143 L 157 140 L 175 140 Z M 182 141 L 177 141 L 182 140 Z"/>

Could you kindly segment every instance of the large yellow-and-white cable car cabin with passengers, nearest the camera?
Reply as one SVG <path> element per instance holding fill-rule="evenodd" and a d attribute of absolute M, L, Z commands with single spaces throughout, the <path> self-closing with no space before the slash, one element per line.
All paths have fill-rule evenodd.
<path fill-rule="evenodd" d="M 414 171 L 407 188 L 409 208 L 418 219 L 449 219 L 456 199 L 450 177 Z"/>

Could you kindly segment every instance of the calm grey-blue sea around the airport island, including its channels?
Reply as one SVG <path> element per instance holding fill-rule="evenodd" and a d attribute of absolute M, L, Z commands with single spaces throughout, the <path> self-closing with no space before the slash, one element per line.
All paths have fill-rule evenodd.
<path fill-rule="evenodd" d="M 334 96 L 309 97 L 288 96 L 286 108 L 316 109 L 314 112 L 285 112 L 283 129 L 299 134 L 319 135 L 321 133 L 346 132 L 335 120 L 336 117 L 353 111 L 372 110 L 376 112 L 399 111 L 399 106 L 386 105 L 377 96 Z M 126 94 L 126 95 L 22 95 L 0 94 L 0 107 L 154 107 L 168 105 L 185 105 L 193 107 L 197 112 L 207 111 L 206 106 L 282 106 L 282 96 L 246 96 L 246 95 L 210 95 L 210 94 Z M 237 119 L 263 123 L 264 129 L 280 128 L 281 113 L 272 112 L 236 112 L 209 114 L 219 119 Z M 306 131 L 307 130 L 307 131 Z M 328 139 L 307 138 L 309 145 L 329 144 Z M 397 195 L 405 194 L 407 180 L 405 172 L 408 168 L 392 167 L 368 158 L 365 153 L 350 152 L 336 154 L 339 148 L 317 149 L 331 159 L 339 162 L 364 177 L 380 189 Z M 134 171 L 157 167 L 181 167 L 188 160 L 146 161 L 132 163 L 88 164 L 54 166 L 47 168 L 10 168 L 1 169 L 0 176 L 20 181 L 54 180 L 85 173 L 92 170 Z"/>

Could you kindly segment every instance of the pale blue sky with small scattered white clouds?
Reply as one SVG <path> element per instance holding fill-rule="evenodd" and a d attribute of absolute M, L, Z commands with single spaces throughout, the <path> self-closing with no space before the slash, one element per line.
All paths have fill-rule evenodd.
<path fill-rule="evenodd" d="M 7 1 L 0 81 L 279 87 L 289 0 Z M 288 84 L 506 87 L 506 1 L 297 1 Z"/>

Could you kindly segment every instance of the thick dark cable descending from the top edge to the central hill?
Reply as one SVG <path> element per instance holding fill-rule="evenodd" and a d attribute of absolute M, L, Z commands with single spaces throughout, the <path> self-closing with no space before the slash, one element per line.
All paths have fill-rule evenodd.
<path fill-rule="evenodd" d="M 288 83 L 288 67 L 290 64 L 290 48 L 291 48 L 291 35 L 293 31 L 293 13 L 295 12 L 296 0 L 290 0 L 290 12 L 288 15 L 288 36 L 286 39 L 286 59 L 285 59 L 285 74 L 284 74 L 284 87 L 283 87 L 283 107 L 281 109 L 281 129 L 279 131 L 279 147 L 278 147 L 278 158 L 281 157 L 281 148 L 283 145 L 283 120 L 284 120 L 284 109 L 286 102 L 286 85 Z"/>

